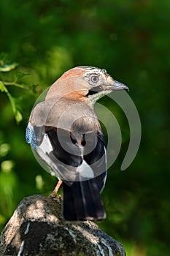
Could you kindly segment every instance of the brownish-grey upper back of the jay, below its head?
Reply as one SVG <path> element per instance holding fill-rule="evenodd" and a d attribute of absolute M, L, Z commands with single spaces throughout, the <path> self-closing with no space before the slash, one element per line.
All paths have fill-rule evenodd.
<path fill-rule="evenodd" d="M 48 99 L 32 110 L 31 124 L 87 133 L 101 129 L 96 113 L 86 102 L 72 99 Z"/>

